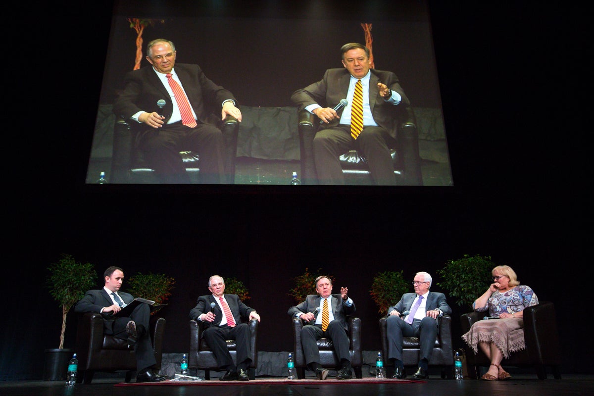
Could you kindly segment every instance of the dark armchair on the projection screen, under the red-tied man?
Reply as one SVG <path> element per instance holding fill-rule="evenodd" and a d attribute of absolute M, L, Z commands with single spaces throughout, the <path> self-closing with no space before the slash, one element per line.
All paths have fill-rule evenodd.
<path fill-rule="evenodd" d="M 135 121 L 134 121 L 135 122 Z M 227 183 L 235 183 L 235 156 L 237 153 L 237 136 L 239 122 L 232 116 L 227 116 L 221 127 L 225 140 L 225 176 Z M 180 151 L 179 160 L 184 162 L 186 171 L 192 182 L 196 182 L 200 175 L 200 159 L 192 151 Z M 135 144 L 134 131 L 129 123 L 116 117 L 113 128 L 113 158 L 111 183 L 158 183 L 154 176 L 154 169 L 146 162 L 143 153 Z"/>

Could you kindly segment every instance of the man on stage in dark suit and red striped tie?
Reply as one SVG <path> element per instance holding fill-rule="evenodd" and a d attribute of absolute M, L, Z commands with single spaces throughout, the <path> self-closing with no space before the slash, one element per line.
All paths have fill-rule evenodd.
<path fill-rule="evenodd" d="M 204 322 L 202 337 L 213 350 L 219 368 L 226 370 L 220 381 L 249 381 L 249 326 L 242 323 L 241 318 L 260 322 L 260 315 L 245 305 L 237 294 L 225 294 L 225 281 L 219 275 L 208 279 L 208 290 L 212 294 L 198 297 L 196 306 L 189 312 L 189 318 Z M 226 340 L 235 340 L 237 365 L 233 363 Z"/>

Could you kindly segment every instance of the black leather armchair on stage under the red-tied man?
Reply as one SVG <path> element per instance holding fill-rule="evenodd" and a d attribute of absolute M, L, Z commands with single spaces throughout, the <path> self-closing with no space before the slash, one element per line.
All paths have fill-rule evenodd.
<path fill-rule="evenodd" d="M 249 325 L 250 349 L 252 362 L 248 367 L 248 376 L 250 379 L 255 378 L 255 369 L 258 367 L 258 322 L 256 319 L 251 319 L 247 322 Z M 214 352 L 208 347 L 206 341 L 201 338 L 203 331 L 203 322 L 189 321 L 189 361 L 188 368 L 204 370 L 204 378 L 210 379 L 210 370 L 219 370 L 217 359 L 214 357 Z M 227 347 L 229 353 L 235 363 L 237 363 L 237 352 L 235 341 L 228 340 Z"/>

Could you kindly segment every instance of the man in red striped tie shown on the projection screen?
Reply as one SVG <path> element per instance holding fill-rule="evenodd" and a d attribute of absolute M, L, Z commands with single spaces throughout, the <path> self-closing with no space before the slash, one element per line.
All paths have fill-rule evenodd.
<path fill-rule="evenodd" d="M 163 183 L 189 183 L 179 151 L 190 150 L 200 156 L 203 183 L 225 183 L 223 134 L 213 112 L 241 122 L 241 112 L 230 91 L 209 80 L 198 65 L 175 64 L 173 42 L 152 40 L 147 45 L 151 66 L 128 72 L 124 90 L 113 103 L 116 116 L 130 120 L 136 132 L 134 144 L 140 147 Z M 174 68 L 175 66 L 175 68 Z M 190 124 L 182 121 L 184 105 L 178 103 L 169 77 L 181 85 L 191 107 Z M 159 109 L 157 101 L 165 100 Z M 184 101 L 180 101 L 184 102 Z M 180 107 L 182 106 L 182 107 Z"/>

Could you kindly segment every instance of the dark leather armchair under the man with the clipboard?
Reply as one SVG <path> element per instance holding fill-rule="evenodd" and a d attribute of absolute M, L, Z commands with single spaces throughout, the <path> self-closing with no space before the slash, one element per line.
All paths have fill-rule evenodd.
<path fill-rule="evenodd" d="M 157 318 L 151 333 L 154 357 L 157 360 L 154 366 L 156 370 L 161 368 L 163 334 L 165 334 L 165 319 Z M 126 340 L 103 333 L 103 316 L 99 313 L 84 313 L 79 316 L 76 352 L 79 384 L 81 382 L 90 384 L 96 371 L 109 373 L 127 371 L 126 382 L 130 382 L 132 374 L 136 372 L 134 349 L 128 347 Z"/>

